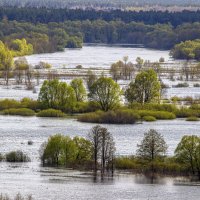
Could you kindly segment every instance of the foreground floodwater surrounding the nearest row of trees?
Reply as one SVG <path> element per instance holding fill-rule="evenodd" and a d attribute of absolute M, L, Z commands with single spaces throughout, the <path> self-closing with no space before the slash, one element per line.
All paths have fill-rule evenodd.
<path fill-rule="evenodd" d="M 0 163 L 0 193 L 14 196 L 20 192 L 32 194 L 35 199 L 88 199 L 88 200 L 197 200 L 199 186 L 176 185 L 173 178 L 151 181 L 143 176 L 116 174 L 104 180 L 79 171 L 43 168 L 39 164 L 40 145 L 55 133 L 86 137 L 95 124 L 75 119 L 0 116 L 0 152 L 23 150 L 32 162 L 25 164 Z M 145 122 L 136 125 L 105 125 L 113 134 L 117 155 L 135 153 L 145 131 L 156 129 L 163 134 L 173 151 L 185 134 L 200 135 L 200 122 L 172 121 Z M 33 145 L 27 142 L 33 141 Z"/>

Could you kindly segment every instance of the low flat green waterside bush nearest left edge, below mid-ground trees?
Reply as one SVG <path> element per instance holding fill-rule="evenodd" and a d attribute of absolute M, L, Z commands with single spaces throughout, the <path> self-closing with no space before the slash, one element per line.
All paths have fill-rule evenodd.
<path fill-rule="evenodd" d="M 10 108 L 3 110 L 4 115 L 34 116 L 35 112 L 28 108 Z"/>

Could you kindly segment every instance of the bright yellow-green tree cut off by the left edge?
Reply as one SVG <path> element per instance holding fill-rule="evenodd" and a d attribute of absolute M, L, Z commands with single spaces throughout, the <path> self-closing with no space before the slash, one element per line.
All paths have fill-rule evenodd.
<path fill-rule="evenodd" d="M 3 71 L 6 85 L 9 82 L 10 71 L 13 67 L 13 56 L 11 51 L 0 41 L 0 70 Z"/>

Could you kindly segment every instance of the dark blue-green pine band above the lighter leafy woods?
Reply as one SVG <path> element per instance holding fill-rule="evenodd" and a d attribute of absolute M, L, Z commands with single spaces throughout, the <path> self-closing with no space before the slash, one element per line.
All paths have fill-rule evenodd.
<path fill-rule="evenodd" d="M 162 12 L 162 11 L 96 11 L 82 9 L 47 9 L 0 7 L 0 19 L 27 21 L 32 23 L 64 22 L 67 20 L 121 20 L 125 23 L 143 22 L 144 24 L 166 24 L 178 26 L 183 23 L 200 22 L 199 11 Z"/>

